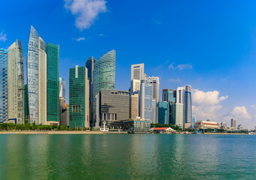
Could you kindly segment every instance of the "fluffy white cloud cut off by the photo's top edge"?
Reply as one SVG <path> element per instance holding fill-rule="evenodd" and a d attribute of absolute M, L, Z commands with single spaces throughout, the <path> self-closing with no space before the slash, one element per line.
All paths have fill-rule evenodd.
<path fill-rule="evenodd" d="M 75 15 L 75 26 L 81 30 L 90 28 L 99 13 L 107 11 L 105 0 L 64 0 L 64 7 Z"/>

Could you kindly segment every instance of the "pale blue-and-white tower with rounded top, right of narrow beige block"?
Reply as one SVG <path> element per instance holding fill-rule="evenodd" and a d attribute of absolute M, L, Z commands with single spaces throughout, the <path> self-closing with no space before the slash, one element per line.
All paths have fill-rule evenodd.
<path fill-rule="evenodd" d="M 153 84 L 148 83 L 148 80 L 142 80 L 139 103 L 141 118 L 148 119 L 151 123 L 157 123 L 158 115 L 156 106 L 156 99 L 153 98 Z"/>

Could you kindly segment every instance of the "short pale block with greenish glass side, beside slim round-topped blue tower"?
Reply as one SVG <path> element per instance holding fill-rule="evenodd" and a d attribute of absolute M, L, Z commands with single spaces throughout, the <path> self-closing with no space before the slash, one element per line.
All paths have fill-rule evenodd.
<path fill-rule="evenodd" d="M 171 104 L 171 123 L 183 128 L 183 104 Z"/>

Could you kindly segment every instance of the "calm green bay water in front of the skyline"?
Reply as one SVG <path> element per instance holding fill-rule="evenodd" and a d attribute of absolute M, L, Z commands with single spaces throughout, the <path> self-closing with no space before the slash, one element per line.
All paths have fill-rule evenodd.
<path fill-rule="evenodd" d="M 0 135 L 0 179 L 256 179 L 256 136 Z"/>

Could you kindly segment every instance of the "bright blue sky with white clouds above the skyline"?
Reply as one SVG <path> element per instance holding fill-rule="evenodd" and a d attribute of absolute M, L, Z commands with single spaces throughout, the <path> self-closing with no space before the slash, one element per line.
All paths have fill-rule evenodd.
<path fill-rule="evenodd" d="M 60 46 L 60 77 L 117 50 L 116 89 L 130 86 L 130 65 L 160 77 L 162 89 L 193 87 L 197 120 L 256 125 L 256 1 L 5 1 L 0 47 L 29 28 Z M 68 90 L 67 85 L 67 90 Z M 67 95 L 69 95 L 67 91 Z"/>

